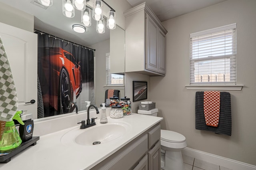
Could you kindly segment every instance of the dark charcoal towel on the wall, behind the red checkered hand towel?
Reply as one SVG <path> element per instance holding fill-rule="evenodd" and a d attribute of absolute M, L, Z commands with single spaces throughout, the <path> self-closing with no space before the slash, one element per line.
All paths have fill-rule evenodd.
<path fill-rule="evenodd" d="M 231 98 L 230 93 L 220 92 L 220 120 L 218 127 L 207 126 L 204 118 L 204 91 L 196 92 L 195 99 L 195 124 L 197 130 L 209 130 L 217 134 L 231 136 Z"/>

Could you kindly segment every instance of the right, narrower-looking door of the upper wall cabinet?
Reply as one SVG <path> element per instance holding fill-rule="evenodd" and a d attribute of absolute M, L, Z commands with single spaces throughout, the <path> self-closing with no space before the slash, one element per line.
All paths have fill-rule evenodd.
<path fill-rule="evenodd" d="M 158 72 L 165 74 L 165 34 L 158 32 Z"/>

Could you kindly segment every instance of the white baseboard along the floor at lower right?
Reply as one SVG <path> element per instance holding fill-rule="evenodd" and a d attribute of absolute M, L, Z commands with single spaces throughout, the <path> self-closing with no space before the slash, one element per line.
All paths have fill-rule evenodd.
<path fill-rule="evenodd" d="M 246 164 L 244 162 L 239 162 L 229 158 L 224 158 L 222 156 L 218 156 L 214 154 L 209 154 L 209 153 L 202 152 L 200 150 L 195 150 L 188 147 L 182 150 L 182 154 L 196 158 L 196 159 L 204 160 L 212 164 L 217 164 L 232 170 L 256 170 L 256 166 L 254 165 Z"/>

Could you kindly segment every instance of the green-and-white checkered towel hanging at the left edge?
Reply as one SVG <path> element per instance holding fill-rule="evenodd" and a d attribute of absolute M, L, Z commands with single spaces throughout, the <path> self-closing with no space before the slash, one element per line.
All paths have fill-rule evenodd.
<path fill-rule="evenodd" d="M 0 121 L 12 121 L 18 109 L 18 98 L 12 71 L 0 37 Z"/>

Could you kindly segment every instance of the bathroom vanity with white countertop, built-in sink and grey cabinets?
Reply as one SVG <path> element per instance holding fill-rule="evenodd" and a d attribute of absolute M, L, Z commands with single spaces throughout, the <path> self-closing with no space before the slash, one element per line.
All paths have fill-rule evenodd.
<path fill-rule="evenodd" d="M 94 117 L 93 112 L 90 117 Z M 160 170 L 160 121 L 163 118 L 132 113 L 120 119 L 108 117 L 106 124 L 96 119 L 96 126 L 80 129 L 76 123 L 84 119 L 86 112 L 35 122 L 34 136 L 39 135 L 40 140 L 7 164 L 0 164 L 0 169 Z M 94 140 L 101 143 L 93 145 Z M 21 166 L 28 160 L 28 167 Z"/>

